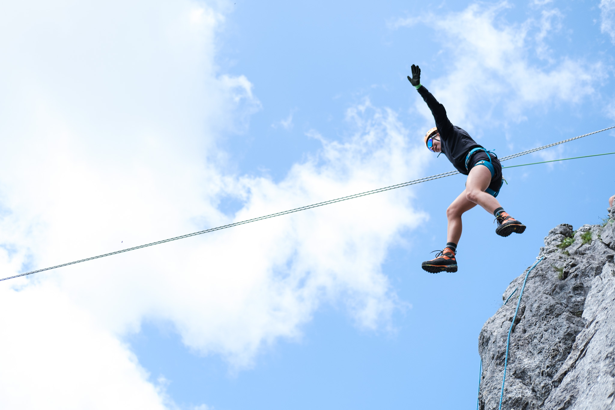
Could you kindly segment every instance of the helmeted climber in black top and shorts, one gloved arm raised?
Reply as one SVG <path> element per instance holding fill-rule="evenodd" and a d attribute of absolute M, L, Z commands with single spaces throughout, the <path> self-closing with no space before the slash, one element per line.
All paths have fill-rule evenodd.
<path fill-rule="evenodd" d="M 477 204 L 493 213 L 498 221 L 496 234 L 508 236 L 512 232 L 522 234 L 525 225 L 512 218 L 504 211 L 496 199 L 504 182 L 502 165 L 493 152 L 477 144 L 467 132 L 451 124 L 446 117 L 444 106 L 421 85 L 421 69 L 412 65 L 412 77 L 408 76 L 410 84 L 421 94 L 434 115 L 435 127 L 425 135 L 427 149 L 432 152 L 443 152 L 460 173 L 467 175 L 466 189 L 449 205 L 446 210 L 448 218 L 446 247 L 438 251 L 435 259 L 422 264 L 427 272 L 457 272 L 455 253 L 461 238 L 461 215 L 474 208 Z M 482 165 L 482 166 L 478 166 Z"/>

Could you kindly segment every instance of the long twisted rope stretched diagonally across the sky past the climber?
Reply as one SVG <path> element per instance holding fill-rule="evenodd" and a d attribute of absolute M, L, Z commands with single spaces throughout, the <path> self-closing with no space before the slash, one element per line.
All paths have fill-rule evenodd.
<path fill-rule="evenodd" d="M 603 132 L 603 131 L 606 131 L 606 130 L 610 130 L 611 128 L 615 128 L 615 125 L 613 125 L 613 127 L 604 128 L 602 130 L 590 132 L 590 133 L 587 133 L 587 134 L 584 134 L 584 135 L 575 136 L 574 138 L 568 138 L 568 140 L 559 141 L 557 143 L 541 146 L 541 147 L 538 147 L 538 148 L 528 149 L 527 151 L 519 152 L 518 154 L 513 154 L 513 155 L 506 156 L 506 157 L 502 157 L 500 159 L 500 161 L 506 161 L 506 160 L 509 160 L 509 159 L 512 159 L 512 158 L 516 158 L 516 157 L 525 155 L 525 154 L 530 154 L 531 152 L 536 152 L 536 151 L 540 151 L 541 149 L 550 148 L 550 147 L 558 145 L 558 144 L 567 143 L 568 141 L 577 140 L 579 138 L 583 138 L 584 136 L 588 136 L 588 135 L 596 134 L 596 133 Z M 598 155 L 605 155 L 605 154 L 598 154 Z M 581 158 L 581 157 L 579 157 L 579 158 Z M 572 159 L 572 158 L 566 158 L 566 159 Z M 545 162 L 551 162 L 551 161 L 545 161 Z M 534 164 L 539 164 L 539 163 L 536 162 Z M 525 164 L 525 165 L 532 165 L 532 164 Z M 506 167 L 506 168 L 508 168 L 508 167 Z M 349 200 L 349 199 L 355 199 L 355 198 L 359 198 L 359 197 L 364 197 L 365 195 L 378 194 L 379 192 L 390 191 L 391 189 L 397 189 L 397 188 L 401 188 L 401 187 L 404 187 L 404 186 L 410 186 L 410 185 L 419 184 L 419 183 L 422 183 L 422 182 L 432 181 L 434 179 L 444 178 L 445 176 L 456 175 L 458 173 L 459 173 L 459 171 L 448 171 L 448 172 L 444 172 L 444 173 L 437 174 L 437 175 L 426 176 L 425 178 L 419 178 L 419 179 L 415 179 L 413 181 L 408 181 L 408 182 L 397 184 L 397 185 L 391 185 L 391 186 L 386 186 L 386 187 L 383 187 L 383 188 L 373 189 L 371 191 L 360 192 L 359 194 L 348 195 L 346 197 L 341 197 L 341 198 L 337 198 L 337 199 L 331 199 L 331 200 L 328 200 L 328 201 L 325 201 L 325 202 L 314 203 L 312 205 L 306 205 L 305 207 L 294 208 L 294 209 L 287 210 L 287 211 L 281 211 L 281 212 L 277 212 L 277 213 L 272 213 L 270 215 L 259 216 L 258 218 L 246 219 L 245 221 L 240 221 L 240 222 L 236 222 L 236 223 L 232 223 L 232 224 L 218 226 L 218 227 L 210 228 L 210 229 L 204 229 L 203 231 L 192 232 L 191 234 L 180 235 L 180 236 L 176 236 L 176 237 L 169 238 L 169 239 L 163 239 L 163 240 L 159 240 L 159 241 L 156 241 L 156 242 L 146 243 L 145 245 L 133 246 L 132 248 L 126 248 L 126 249 L 122 249 L 122 250 L 119 250 L 119 251 L 103 253 L 103 254 L 98 255 L 98 256 L 92 256 L 90 258 L 85 258 L 85 259 L 79 259 L 78 261 L 63 263 L 61 265 L 50 266 L 50 267 L 46 267 L 46 268 L 43 268 L 43 269 L 32 270 L 31 272 L 25 272 L 23 274 L 18 274 L 18 275 L 13 275 L 13 276 L 9 276 L 9 277 L 6 277 L 6 278 L 2 278 L 2 279 L 0 279 L 0 282 L 2 280 L 9 280 L 9 279 L 14 279 L 14 278 L 18 278 L 18 277 L 22 277 L 22 276 L 26 276 L 26 275 L 36 274 L 38 272 L 44 272 L 45 270 L 57 269 L 58 267 L 74 265 L 74 264 L 81 263 L 81 262 L 92 261 L 93 259 L 105 258 L 106 256 L 112 256 L 112 255 L 116 255 L 116 254 L 119 254 L 119 253 L 134 251 L 134 250 L 141 249 L 141 248 L 147 248 L 148 246 L 160 245 L 161 243 L 172 242 L 173 240 L 185 239 L 185 238 L 189 238 L 189 237 L 196 236 L 196 235 L 207 234 L 208 232 L 220 231 L 221 229 L 231 228 L 231 227 L 234 227 L 234 226 L 244 225 L 244 224 L 248 224 L 248 223 L 252 223 L 252 222 L 256 222 L 256 221 L 262 221 L 263 219 L 274 218 L 275 216 L 288 215 L 289 213 L 295 213 L 295 212 L 298 212 L 298 211 L 304 211 L 304 210 L 308 210 L 308 209 L 312 209 L 312 208 L 322 207 L 323 205 L 329 205 L 330 203 L 342 202 L 342 201 Z"/>

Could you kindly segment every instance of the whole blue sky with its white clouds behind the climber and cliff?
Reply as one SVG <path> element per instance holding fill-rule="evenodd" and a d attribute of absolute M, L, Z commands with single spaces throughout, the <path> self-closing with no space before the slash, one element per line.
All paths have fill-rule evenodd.
<path fill-rule="evenodd" d="M 451 170 L 422 146 L 412 64 L 501 157 L 615 124 L 613 0 L 67 0 L 2 20 L 3 277 Z M 528 229 L 470 211 L 456 274 L 420 264 L 461 175 L 2 282 L 0 403 L 474 406 L 483 323 L 550 228 L 606 215 L 612 164 L 504 170 Z"/>

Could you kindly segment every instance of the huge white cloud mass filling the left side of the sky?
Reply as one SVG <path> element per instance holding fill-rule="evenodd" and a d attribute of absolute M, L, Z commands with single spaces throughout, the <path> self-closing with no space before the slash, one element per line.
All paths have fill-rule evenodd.
<path fill-rule="evenodd" d="M 223 15 L 202 3 L 14 2 L 0 20 L 6 275 L 407 181 L 427 158 L 366 101 L 347 113 L 352 136 L 313 133 L 322 152 L 280 183 L 228 173 L 217 136 L 260 104 L 248 79 L 216 71 Z M 225 195 L 244 208 L 224 215 Z M 398 302 L 380 266 L 426 218 L 412 200 L 399 189 L 3 282 L 0 407 L 172 406 L 121 343 L 143 320 L 239 368 L 324 302 L 386 326 Z M 26 388 L 44 394 L 20 401 Z"/>

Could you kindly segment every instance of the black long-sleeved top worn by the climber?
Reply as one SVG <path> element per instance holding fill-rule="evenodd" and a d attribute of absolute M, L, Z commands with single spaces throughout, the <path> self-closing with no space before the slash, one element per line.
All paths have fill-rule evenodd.
<path fill-rule="evenodd" d="M 459 127 L 451 124 L 446 117 L 444 106 L 435 99 L 423 85 L 417 90 L 434 115 L 435 126 L 440 133 L 442 152 L 459 172 L 468 175 L 466 170 L 466 155 L 472 148 L 482 148 L 482 145 L 472 140 L 472 137 Z M 479 151 L 482 152 L 482 151 Z M 470 168 L 471 169 L 471 168 Z"/>

